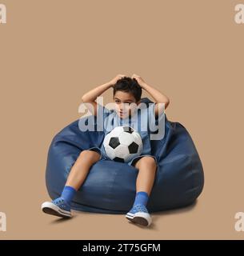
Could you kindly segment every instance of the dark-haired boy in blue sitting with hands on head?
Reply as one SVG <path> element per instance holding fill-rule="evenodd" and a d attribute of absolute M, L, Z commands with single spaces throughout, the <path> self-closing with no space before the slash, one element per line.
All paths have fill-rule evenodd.
<path fill-rule="evenodd" d="M 141 120 L 146 120 L 147 122 L 147 115 L 149 115 L 150 118 L 154 114 L 155 118 L 159 118 L 159 114 L 162 113 L 162 110 L 166 109 L 170 100 L 160 91 L 147 85 L 138 75 L 133 74 L 133 76 L 129 78 L 123 74 L 118 74 L 110 82 L 98 86 L 82 96 L 82 102 L 95 116 L 98 114 L 97 107 L 100 107 L 95 100 L 99 95 L 111 87 L 114 89 L 115 107 L 114 111 L 107 110 L 110 112 L 110 118 L 104 122 L 106 128 L 111 126 L 111 122 L 113 122 L 115 126 L 120 126 L 121 122 L 126 122 L 128 126 L 132 127 L 137 125 L 138 133 L 141 135 L 143 143 L 142 154 L 128 162 L 129 165 L 138 169 L 138 177 L 136 181 L 137 193 L 134 199 L 134 205 L 126 214 L 126 218 L 131 222 L 138 223 L 142 226 L 150 226 L 151 217 L 146 209 L 146 204 L 154 185 L 154 177 L 158 163 L 157 159 L 151 155 L 149 132 L 148 130 L 142 131 L 140 129 L 138 120 L 132 122 L 134 112 L 133 108 L 130 106 L 138 106 L 142 96 L 142 89 L 146 90 L 154 98 L 155 103 L 149 106 L 148 109 L 142 109 L 138 116 L 140 115 Z M 104 110 L 105 108 L 103 107 L 103 114 Z M 105 135 L 107 133 L 108 131 L 106 130 Z M 70 170 L 61 197 L 52 202 L 44 202 L 42 204 L 42 210 L 46 214 L 53 214 L 59 217 L 71 217 L 70 202 L 72 201 L 74 194 L 85 181 L 90 166 L 102 159 L 107 159 L 103 145 L 101 148 L 93 147 L 88 150 L 82 150 L 74 163 L 74 166 L 72 166 Z"/>

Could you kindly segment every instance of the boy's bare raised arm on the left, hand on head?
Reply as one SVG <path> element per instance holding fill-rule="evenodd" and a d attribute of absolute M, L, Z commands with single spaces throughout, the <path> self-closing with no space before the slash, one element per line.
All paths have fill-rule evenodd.
<path fill-rule="evenodd" d="M 100 96 L 103 92 L 105 92 L 110 87 L 113 87 L 114 84 L 118 81 L 118 79 L 122 78 L 124 75 L 118 74 L 114 79 L 110 82 L 106 82 L 101 86 L 97 86 L 93 90 L 88 91 L 86 94 L 82 96 L 82 102 L 86 105 L 87 109 L 94 115 L 97 115 L 97 105 L 95 102 L 98 96 Z M 86 104 L 90 103 L 90 104 Z"/>

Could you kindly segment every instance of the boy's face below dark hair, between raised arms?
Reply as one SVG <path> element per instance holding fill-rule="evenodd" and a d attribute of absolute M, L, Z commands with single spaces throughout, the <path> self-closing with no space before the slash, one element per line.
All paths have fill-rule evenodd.
<path fill-rule="evenodd" d="M 114 94 L 115 111 L 120 118 L 131 116 L 134 113 L 134 110 L 136 110 L 136 106 L 139 102 L 140 101 L 136 102 L 133 94 L 122 90 L 117 90 Z M 131 103 L 135 103 L 136 106 Z"/>

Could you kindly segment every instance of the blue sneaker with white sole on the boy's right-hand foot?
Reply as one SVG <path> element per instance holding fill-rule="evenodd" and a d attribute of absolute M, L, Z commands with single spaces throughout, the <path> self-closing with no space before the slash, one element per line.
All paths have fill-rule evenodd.
<path fill-rule="evenodd" d="M 152 219 L 146 206 L 142 204 L 138 204 L 126 214 L 126 218 L 129 219 L 131 222 L 138 223 L 142 226 L 150 226 Z"/>

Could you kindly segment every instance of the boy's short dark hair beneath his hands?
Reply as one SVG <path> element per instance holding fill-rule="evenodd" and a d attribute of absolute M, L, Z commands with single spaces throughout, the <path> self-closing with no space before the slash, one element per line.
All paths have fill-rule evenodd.
<path fill-rule="evenodd" d="M 119 79 L 114 85 L 114 94 L 118 90 L 133 94 L 136 102 L 138 102 L 142 96 L 142 87 L 135 78 L 124 77 Z"/>

